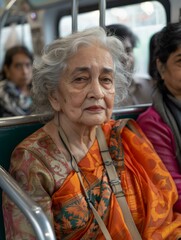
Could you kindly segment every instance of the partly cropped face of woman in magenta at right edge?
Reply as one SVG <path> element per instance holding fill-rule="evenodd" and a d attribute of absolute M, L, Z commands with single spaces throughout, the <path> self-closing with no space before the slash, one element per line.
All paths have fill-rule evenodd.
<path fill-rule="evenodd" d="M 181 46 L 169 56 L 161 77 L 168 90 L 181 99 Z"/>

